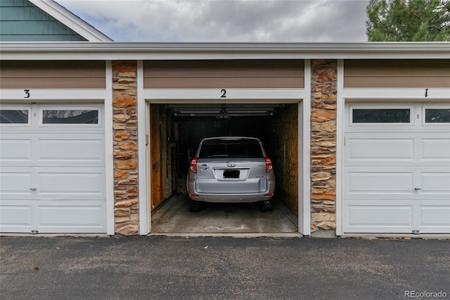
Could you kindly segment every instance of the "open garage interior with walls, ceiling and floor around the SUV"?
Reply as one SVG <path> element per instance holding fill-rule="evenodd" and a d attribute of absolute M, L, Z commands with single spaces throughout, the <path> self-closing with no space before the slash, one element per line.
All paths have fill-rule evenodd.
<path fill-rule="evenodd" d="M 298 232 L 298 104 L 150 104 L 153 233 Z M 274 210 L 257 204 L 205 204 L 188 210 L 186 175 L 205 137 L 261 139 L 274 163 Z"/>

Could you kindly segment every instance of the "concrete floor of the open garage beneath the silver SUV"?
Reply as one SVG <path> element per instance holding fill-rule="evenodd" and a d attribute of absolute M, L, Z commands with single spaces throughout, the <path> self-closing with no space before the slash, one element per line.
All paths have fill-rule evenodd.
<path fill-rule="evenodd" d="M 202 211 L 188 208 L 188 196 L 172 196 L 152 213 L 151 235 L 171 236 L 291 236 L 299 237 L 297 215 L 275 200 L 263 213 L 257 204 L 207 203 Z"/>

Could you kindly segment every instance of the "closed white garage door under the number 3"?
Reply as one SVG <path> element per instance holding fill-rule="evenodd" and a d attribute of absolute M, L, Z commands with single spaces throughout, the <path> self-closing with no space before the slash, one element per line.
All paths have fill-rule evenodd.
<path fill-rule="evenodd" d="M 106 232 L 103 106 L 0 106 L 0 231 Z"/>

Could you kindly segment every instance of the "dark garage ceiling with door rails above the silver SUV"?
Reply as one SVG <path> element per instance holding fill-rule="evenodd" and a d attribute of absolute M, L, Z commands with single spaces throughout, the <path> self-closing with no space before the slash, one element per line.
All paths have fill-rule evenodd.
<path fill-rule="evenodd" d="M 283 104 L 168 104 L 175 116 L 231 118 L 274 115 Z"/>

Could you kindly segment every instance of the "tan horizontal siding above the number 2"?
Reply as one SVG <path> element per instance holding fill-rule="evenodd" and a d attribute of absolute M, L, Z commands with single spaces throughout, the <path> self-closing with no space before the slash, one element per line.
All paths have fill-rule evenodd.
<path fill-rule="evenodd" d="M 144 89 L 303 88 L 303 61 L 145 61 Z"/>

